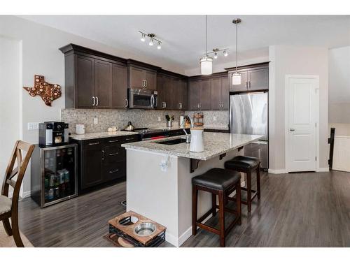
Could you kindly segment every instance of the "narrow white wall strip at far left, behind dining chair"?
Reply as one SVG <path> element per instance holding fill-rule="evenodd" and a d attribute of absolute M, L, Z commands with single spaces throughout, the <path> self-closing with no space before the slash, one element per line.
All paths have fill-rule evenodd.
<path fill-rule="evenodd" d="M 15 141 L 21 139 L 20 60 L 20 41 L 0 36 L 0 184 Z"/>

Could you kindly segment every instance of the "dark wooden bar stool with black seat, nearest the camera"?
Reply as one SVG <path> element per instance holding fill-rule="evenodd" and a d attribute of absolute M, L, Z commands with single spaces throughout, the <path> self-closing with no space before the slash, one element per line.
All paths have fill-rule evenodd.
<path fill-rule="evenodd" d="M 225 247 L 225 235 L 235 226 L 241 224 L 241 174 L 238 172 L 223 168 L 212 168 L 202 175 L 197 175 L 192 179 L 192 233 L 197 234 L 197 226 L 212 233 L 220 235 L 220 245 Z M 200 219 L 197 219 L 197 203 L 198 191 L 207 191 L 211 193 L 211 210 L 205 213 Z M 228 194 L 236 190 L 237 210 L 225 208 L 225 201 L 228 199 Z M 218 196 L 218 205 L 216 205 L 216 196 Z M 216 208 L 219 209 L 220 229 L 212 228 L 202 224 L 210 214 L 213 217 L 216 215 Z M 235 214 L 235 219 L 230 226 L 225 229 L 225 211 Z"/>

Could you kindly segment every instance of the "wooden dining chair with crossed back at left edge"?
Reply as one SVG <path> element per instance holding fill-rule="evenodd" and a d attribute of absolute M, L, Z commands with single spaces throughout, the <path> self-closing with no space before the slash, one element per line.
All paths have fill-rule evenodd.
<path fill-rule="evenodd" d="M 2 220 L 6 233 L 9 236 L 13 235 L 17 247 L 24 247 L 18 228 L 18 200 L 20 197 L 20 188 L 34 147 L 35 145 L 30 145 L 20 140 L 15 143 L 10 162 L 6 168 L 0 195 L 0 220 Z M 24 154 L 22 155 L 23 152 L 27 152 L 25 157 Z M 13 168 L 16 160 L 17 167 Z M 16 175 L 17 180 L 14 180 Z M 9 186 L 13 187 L 12 200 L 8 198 Z M 11 225 L 9 219 L 11 219 Z"/>

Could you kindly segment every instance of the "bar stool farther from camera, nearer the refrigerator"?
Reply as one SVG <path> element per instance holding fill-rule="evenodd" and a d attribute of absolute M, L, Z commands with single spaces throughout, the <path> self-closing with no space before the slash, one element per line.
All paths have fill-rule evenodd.
<path fill-rule="evenodd" d="M 246 188 L 241 187 L 241 190 L 246 191 L 246 201 L 241 201 L 241 203 L 248 205 L 248 212 L 251 212 L 251 201 L 253 201 L 253 198 L 258 196 L 258 199 L 260 199 L 260 160 L 255 157 L 237 156 L 229 161 L 226 161 L 225 168 L 246 173 Z M 256 191 L 251 189 L 251 173 L 253 173 L 255 170 Z"/>

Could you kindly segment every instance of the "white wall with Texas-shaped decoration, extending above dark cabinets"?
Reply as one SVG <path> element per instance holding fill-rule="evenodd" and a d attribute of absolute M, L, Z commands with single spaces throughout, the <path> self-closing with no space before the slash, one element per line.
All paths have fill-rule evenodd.
<path fill-rule="evenodd" d="M 38 143 L 38 131 L 28 131 L 27 123 L 57 121 L 60 119 L 61 108 L 64 108 L 64 54 L 58 50 L 64 45 L 75 43 L 120 57 L 139 59 L 167 68 L 167 70 L 179 72 L 179 68 L 172 68 L 167 61 L 153 61 L 146 57 L 138 57 L 137 54 L 123 52 L 118 48 L 112 48 L 51 27 L 45 27 L 20 17 L 1 15 L 0 36 L 22 41 L 22 84 L 20 85 L 32 87 L 34 75 L 38 74 L 44 75 L 48 82 L 62 86 L 62 97 L 53 101 L 52 107 L 45 105 L 38 96 L 34 98 L 29 96 L 24 89 L 21 89 L 20 94 L 18 94 L 18 96 L 23 96 L 22 139 L 29 143 Z M 3 64 L 3 61 L 0 61 L 0 64 Z M 6 67 L 7 65 L 3 66 Z M 3 78 L 1 81 L 3 81 Z M 11 143 L 14 143 L 14 140 Z M 25 192 L 30 191 L 29 174 L 25 176 L 23 189 Z"/>

